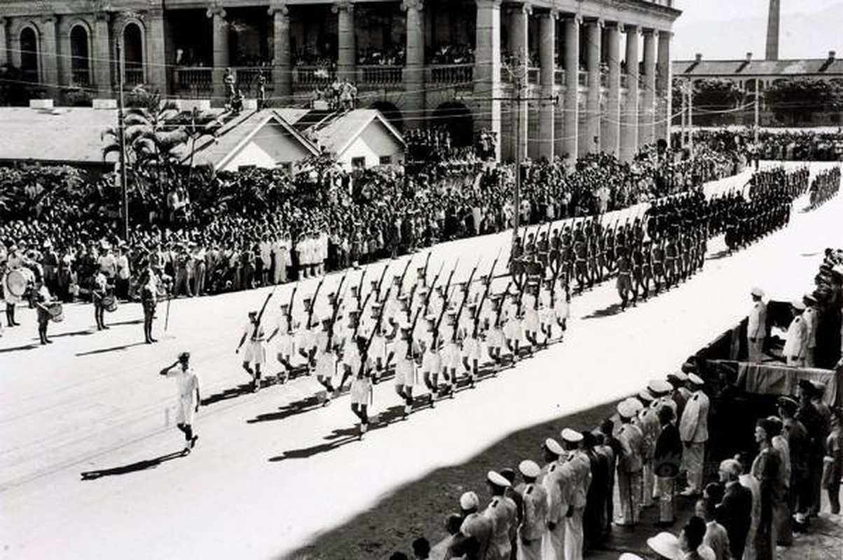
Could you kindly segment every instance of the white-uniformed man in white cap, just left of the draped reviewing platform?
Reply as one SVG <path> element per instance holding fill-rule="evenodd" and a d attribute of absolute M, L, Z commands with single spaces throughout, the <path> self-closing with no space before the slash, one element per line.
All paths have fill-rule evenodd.
<path fill-rule="evenodd" d="M 706 393 L 702 392 L 705 382 L 700 376 L 692 373 L 688 376 L 688 386 L 692 391 L 682 418 L 679 419 L 679 439 L 682 440 L 682 463 L 688 472 L 688 488 L 683 490 L 684 496 L 695 496 L 702 493 L 702 471 L 706 458 L 706 441 L 708 440 L 708 408 Z"/>

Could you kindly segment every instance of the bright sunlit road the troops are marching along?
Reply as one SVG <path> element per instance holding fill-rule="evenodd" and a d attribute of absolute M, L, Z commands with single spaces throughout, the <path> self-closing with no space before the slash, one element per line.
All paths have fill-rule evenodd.
<path fill-rule="evenodd" d="M 748 179 L 744 173 L 706 193 L 740 188 Z M 110 314 L 107 332 L 95 330 L 90 306 L 67 306 L 65 321 L 51 325 L 56 344 L 49 347 L 38 344 L 35 313 L 22 310 L 23 326 L 0 339 L 0 555 L 284 557 L 426 472 L 675 370 L 744 317 L 751 286 L 776 299 L 801 296 L 813 286 L 824 248 L 843 239 L 840 197 L 816 211 L 803 212 L 806 205 L 806 197 L 798 199 L 789 227 L 733 255 L 722 237 L 713 240 L 701 273 L 625 312 L 614 280 L 576 296 L 562 344 L 435 409 L 384 425 L 401 401 L 391 381 L 379 384 L 372 413 L 384 419 L 364 441 L 357 441 L 348 397 L 316 405 L 311 378 L 248 391 L 250 378 L 234 349 L 246 313 L 271 288 L 173 301 L 165 333 L 166 304 L 159 304 L 154 345 L 143 344 L 137 304 Z M 459 259 L 454 280 L 464 280 L 478 261 L 478 274 L 485 274 L 504 248 L 502 270 L 508 239 L 502 233 L 443 243 L 433 250 L 431 269 L 444 262 L 447 270 Z M 416 253 L 410 275 L 425 255 Z M 400 274 L 404 259 L 389 264 L 389 275 Z M 371 265 L 368 277 L 383 266 Z M 330 275 L 323 289 L 340 278 Z M 299 285 L 298 309 L 298 297 L 314 291 L 315 282 Z M 497 289 L 505 282 L 498 280 Z M 271 299 L 268 329 L 290 291 L 281 286 Z M 196 420 L 200 440 L 185 457 L 173 425 L 175 385 L 158 376 L 182 350 L 191 352 L 207 400 Z"/>

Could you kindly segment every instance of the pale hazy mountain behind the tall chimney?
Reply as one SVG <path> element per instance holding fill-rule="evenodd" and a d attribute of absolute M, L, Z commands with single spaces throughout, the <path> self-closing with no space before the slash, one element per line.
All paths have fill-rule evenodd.
<path fill-rule="evenodd" d="M 824 58 L 837 51 L 843 58 L 843 2 L 816 13 L 781 15 L 780 58 Z M 682 18 L 674 27 L 674 59 L 693 58 L 700 52 L 707 59 L 741 59 L 747 52 L 763 58 L 767 19 L 741 18 L 730 21 L 711 19 L 685 24 Z"/>

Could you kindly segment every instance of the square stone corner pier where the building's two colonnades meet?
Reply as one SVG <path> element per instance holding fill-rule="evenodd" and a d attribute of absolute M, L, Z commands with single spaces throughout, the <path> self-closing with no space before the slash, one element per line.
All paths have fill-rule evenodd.
<path fill-rule="evenodd" d="M 496 157 L 501 158 L 501 0 L 475 0 L 474 103 L 475 132 L 497 135 Z"/>

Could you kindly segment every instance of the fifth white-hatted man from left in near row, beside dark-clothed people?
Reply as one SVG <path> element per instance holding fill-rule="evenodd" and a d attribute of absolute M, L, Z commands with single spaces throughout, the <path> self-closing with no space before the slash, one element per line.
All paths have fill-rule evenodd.
<path fill-rule="evenodd" d="M 566 450 L 567 461 L 563 467 L 570 468 L 571 515 L 565 518 L 565 559 L 583 560 L 583 514 L 585 513 L 588 487 L 591 486 L 591 460 L 581 449 L 583 435 L 566 428 L 562 430 L 562 444 Z M 562 490 L 563 497 L 565 489 Z"/>

